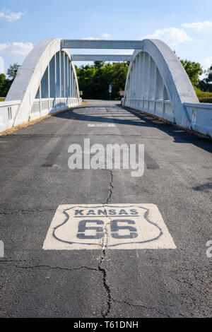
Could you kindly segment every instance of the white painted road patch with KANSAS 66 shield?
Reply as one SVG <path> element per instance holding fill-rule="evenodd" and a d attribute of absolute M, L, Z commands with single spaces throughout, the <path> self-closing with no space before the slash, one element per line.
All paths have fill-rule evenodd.
<path fill-rule="evenodd" d="M 176 249 L 153 204 L 63 205 L 43 249 Z"/>

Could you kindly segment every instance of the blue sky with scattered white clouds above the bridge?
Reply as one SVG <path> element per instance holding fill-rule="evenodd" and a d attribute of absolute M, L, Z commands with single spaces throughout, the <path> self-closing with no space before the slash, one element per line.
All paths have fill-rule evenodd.
<path fill-rule="evenodd" d="M 212 0 L 0 0 L 0 57 L 5 72 L 9 64 L 22 64 L 45 37 L 154 37 L 167 42 L 182 59 L 199 61 L 206 69 L 212 64 Z"/>

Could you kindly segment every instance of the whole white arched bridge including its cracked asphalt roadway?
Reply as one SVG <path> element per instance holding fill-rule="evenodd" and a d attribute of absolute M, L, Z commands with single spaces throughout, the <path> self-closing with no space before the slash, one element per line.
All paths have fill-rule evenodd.
<path fill-rule="evenodd" d="M 130 61 L 122 103 L 81 100 L 84 60 Z M 0 132 L 0 316 L 210 316 L 212 105 L 167 45 L 42 40 L 0 103 Z"/>

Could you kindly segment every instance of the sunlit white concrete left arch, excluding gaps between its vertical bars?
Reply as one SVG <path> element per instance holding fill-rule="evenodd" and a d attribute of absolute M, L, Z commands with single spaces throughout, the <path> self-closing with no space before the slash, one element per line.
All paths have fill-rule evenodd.
<path fill-rule="evenodd" d="M 41 95 L 36 98 L 40 83 L 46 72 L 48 72 L 48 86 L 46 88 L 49 90 L 49 64 L 58 52 L 62 52 L 61 54 L 63 54 L 63 56 L 66 54 L 66 58 L 64 59 L 68 59 L 66 60 L 67 66 L 64 63 L 64 76 L 65 69 L 68 72 L 70 68 L 69 72 L 72 77 L 73 85 L 72 95 L 55 95 L 51 98 L 48 92 L 45 98 L 42 98 Z M 59 68 L 61 70 L 61 63 Z M 61 76 L 61 73 L 59 75 Z M 30 52 L 25 59 L 20 71 L 18 71 L 18 75 L 8 92 L 6 102 L 12 100 L 20 100 L 20 107 L 13 121 L 13 125 L 15 126 L 28 122 L 30 119 L 42 117 L 49 112 L 56 112 L 59 109 L 80 103 L 76 69 L 71 61 L 69 49 L 61 49 L 61 39 L 47 38 L 34 47 L 32 52 Z"/>

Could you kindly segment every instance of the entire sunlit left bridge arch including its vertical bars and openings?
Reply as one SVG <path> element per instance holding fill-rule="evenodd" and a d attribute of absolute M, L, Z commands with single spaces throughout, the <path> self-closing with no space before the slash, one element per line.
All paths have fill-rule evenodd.
<path fill-rule="evenodd" d="M 42 40 L 30 52 L 6 97 L 12 100 L 20 100 L 14 126 L 80 104 L 76 69 L 61 39 Z"/>

